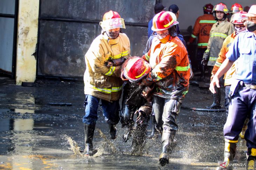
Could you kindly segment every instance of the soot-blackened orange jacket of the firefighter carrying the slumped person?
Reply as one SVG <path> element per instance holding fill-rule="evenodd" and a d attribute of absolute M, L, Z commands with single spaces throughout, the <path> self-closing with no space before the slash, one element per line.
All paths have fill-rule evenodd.
<path fill-rule="evenodd" d="M 178 37 L 153 39 L 151 49 L 142 56 L 152 67 L 146 81 L 156 82 L 153 95 L 183 99 L 188 93 L 190 66 L 188 53 Z"/>

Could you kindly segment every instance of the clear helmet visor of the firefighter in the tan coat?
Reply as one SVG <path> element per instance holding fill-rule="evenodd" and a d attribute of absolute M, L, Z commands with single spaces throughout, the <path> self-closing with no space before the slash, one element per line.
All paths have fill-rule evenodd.
<path fill-rule="evenodd" d="M 103 30 L 111 30 L 115 28 L 125 28 L 124 21 L 122 18 L 113 18 L 100 22 L 100 26 Z"/>

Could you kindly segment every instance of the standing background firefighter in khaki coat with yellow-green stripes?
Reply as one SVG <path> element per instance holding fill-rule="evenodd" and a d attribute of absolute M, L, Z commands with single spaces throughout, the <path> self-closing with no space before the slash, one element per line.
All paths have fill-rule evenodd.
<path fill-rule="evenodd" d="M 207 50 L 203 54 L 202 64 L 208 65 L 210 70 L 213 70 L 213 66 L 218 58 L 224 39 L 232 34 L 234 30 L 233 24 L 228 22 L 227 15 L 228 8 L 223 3 L 219 3 L 214 6 L 213 13 L 216 16 L 217 22 L 210 30 L 210 38 L 207 44 Z M 208 64 L 207 64 L 208 62 Z M 220 88 L 216 88 L 216 93 L 213 94 L 213 104 L 207 106 L 208 109 L 220 109 L 221 108 L 221 91 Z"/>

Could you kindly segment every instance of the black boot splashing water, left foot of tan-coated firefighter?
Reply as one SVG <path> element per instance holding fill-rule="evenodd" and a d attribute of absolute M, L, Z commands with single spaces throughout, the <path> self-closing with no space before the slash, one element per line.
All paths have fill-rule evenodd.
<path fill-rule="evenodd" d="M 93 155 L 93 135 L 96 124 L 83 124 L 85 127 L 85 150 L 83 153 L 85 155 Z"/>

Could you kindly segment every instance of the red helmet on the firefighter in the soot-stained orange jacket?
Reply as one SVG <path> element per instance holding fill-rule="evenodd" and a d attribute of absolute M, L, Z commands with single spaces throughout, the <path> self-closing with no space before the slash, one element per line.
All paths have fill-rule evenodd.
<path fill-rule="evenodd" d="M 173 27 L 173 25 L 178 24 L 177 21 L 173 20 L 173 17 L 168 12 L 162 11 L 158 14 L 156 14 L 153 18 L 153 31 L 162 31 L 166 30 L 170 27 Z"/>

